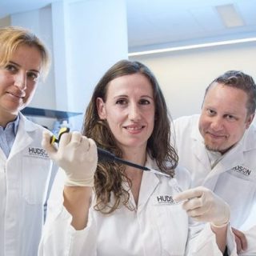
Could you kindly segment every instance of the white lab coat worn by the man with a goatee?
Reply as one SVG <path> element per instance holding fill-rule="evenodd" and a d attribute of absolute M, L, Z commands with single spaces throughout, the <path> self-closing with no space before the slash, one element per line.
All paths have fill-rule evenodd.
<path fill-rule="evenodd" d="M 230 224 L 240 230 L 255 223 L 256 127 L 251 125 L 238 145 L 228 151 L 214 169 L 198 130 L 199 115 L 174 120 L 179 163 L 190 170 L 192 187 L 206 186 L 230 205 Z M 256 240 L 254 242 L 256 244 Z"/>

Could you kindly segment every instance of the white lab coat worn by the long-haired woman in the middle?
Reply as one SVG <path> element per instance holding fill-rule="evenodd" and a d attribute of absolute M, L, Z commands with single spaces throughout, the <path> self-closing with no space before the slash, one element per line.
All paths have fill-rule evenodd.
<path fill-rule="evenodd" d="M 146 166 L 155 167 L 152 161 Z M 71 216 L 62 206 L 63 177 L 60 171 L 48 201 L 49 215 L 39 256 L 222 255 L 210 226 L 198 223 L 190 226 L 182 204 L 172 200 L 179 191 L 178 184 L 182 190 L 190 187 L 190 176 L 185 169 L 176 170 L 178 182 L 144 172 L 137 210 L 120 206 L 113 214 L 104 215 L 90 208 L 88 225 L 79 231 L 70 226 Z M 132 194 L 130 205 L 135 206 Z M 230 255 L 236 255 L 230 234 L 229 231 L 228 241 L 234 248 Z"/>

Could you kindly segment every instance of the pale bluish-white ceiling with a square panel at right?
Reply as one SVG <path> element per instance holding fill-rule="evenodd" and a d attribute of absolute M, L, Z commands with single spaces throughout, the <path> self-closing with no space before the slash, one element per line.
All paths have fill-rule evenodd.
<path fill-rule="evenodd" d="M 0 0 L 0 18 L 56 1 Z M 256 37 L 256 0 L 126 0 L 126 5 L 130 51 Z"/>

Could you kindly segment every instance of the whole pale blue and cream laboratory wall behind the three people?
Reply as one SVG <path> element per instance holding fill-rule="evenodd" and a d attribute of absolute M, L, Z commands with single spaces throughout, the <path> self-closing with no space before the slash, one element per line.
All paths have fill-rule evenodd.
<path fill-rule="evenodd" d="M 39 83 L 30 106 L 83 112 L 104 71 L 118 59 L 128 58 L 124 2 L 111 0 L 108 9 L 100 9 L 102 2 L 56 2 L 41 10 L 0 19 L 0 26 L 34 30 L 53 56 L 50 75 Z M 256 42 L 130 59 L 153 70 L 173 118 L 199 113 L 206 86 L 226 70 L 242 70 L 256 81 Z"/>

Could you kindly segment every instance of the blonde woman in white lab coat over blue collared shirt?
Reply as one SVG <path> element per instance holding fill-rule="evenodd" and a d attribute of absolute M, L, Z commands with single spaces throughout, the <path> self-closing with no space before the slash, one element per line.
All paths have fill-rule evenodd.
<path fill-rule="evenodd" d="M 0 28 L 0 255 L 36 255 L 52 162 L 41 126 L 21 113 L 34 95 L 49 56 L 34 34 Z"/>

